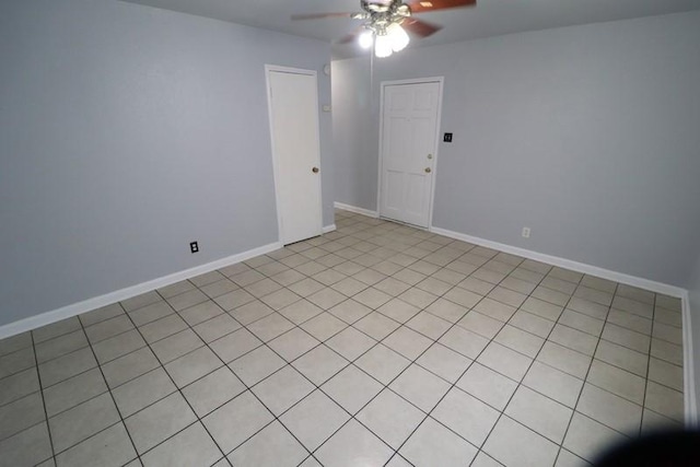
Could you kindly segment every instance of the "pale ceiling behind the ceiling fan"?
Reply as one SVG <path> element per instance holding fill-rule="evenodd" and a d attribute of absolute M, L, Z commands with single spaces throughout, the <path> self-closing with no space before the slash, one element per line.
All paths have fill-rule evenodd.
<path fill-rule="evenodd" d="M 360 0 L 124 1 L 331 42 L 337 58 L 363 52 L 355 44 L 335 44 L 357 28 L 360 21 L 290 20 L 298 13 L 361 11 Z M 700 10 L 700 0 L 478 0 L 474 8 L 418 14 L 443 30 L 424 39 L 412 37 L 410 47 L 690 10 Z"/>

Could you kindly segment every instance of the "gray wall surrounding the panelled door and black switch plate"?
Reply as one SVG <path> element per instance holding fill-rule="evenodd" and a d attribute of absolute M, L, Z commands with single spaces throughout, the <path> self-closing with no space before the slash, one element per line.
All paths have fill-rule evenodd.
<path fill-rule="evenodd" d="M 445 77 L 433 225 L 685 287 L 700 12 L 334 62 L 336 200 L 376 209 L 378 83 Z M 521 237 L 523 226 L 532 237 Z"/>

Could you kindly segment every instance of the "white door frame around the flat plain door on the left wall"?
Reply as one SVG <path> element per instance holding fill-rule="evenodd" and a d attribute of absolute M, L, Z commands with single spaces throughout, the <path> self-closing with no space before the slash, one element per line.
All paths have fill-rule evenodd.
<path fill-rule="evenodd" d="M 320 118 L 318 116 L 318 73 L 316 72 L 316 70 L 305 70 L 302 68 L 290 68 L 290 67 L 282 67 L 282 66 L 269 65 L 269 63 L 265 65 L 265 91 L 267 94 L 267 116 L 268 116 L 269 129 L 270 129 L 270 149 L 272 152 L 272 177 L 275 180 L 277 235 L 278 235 L 278 242 L 283 244 L 284 225 L 282 223 L 282 210 L 281 210 L 282 203 L 280 202 L 280 183 L 279 183 L 282 175 L 280 174 L 280 168 L 279 168 L 279 153 L 275 148 L 275 122 L 272 121 L 272 93 L 271 93 L 271 86 L 270 86 L 270 73 L 272 72 L 304 74 L 307 77 L 313 77 L 314 81 L 316 82 L 316 85 L 314 87 L 315 93 L 314 93 L 313 104 L 314 104 L 314 108 L 316 109 L 314 115 L 316 116 L 315 129 L 316 129 L 316 145 L 318 148 L 318 167 L 322 170 L 320 175 L 323 176 L 323 167 L 320 165 Z M 318 235 L 323 233 L 323 225 L 324 225 L 323 186 L 320 182 L 322 176 L 316 177 L 316 179 L 318 180 L 317 182 L 318 183 Z"/>

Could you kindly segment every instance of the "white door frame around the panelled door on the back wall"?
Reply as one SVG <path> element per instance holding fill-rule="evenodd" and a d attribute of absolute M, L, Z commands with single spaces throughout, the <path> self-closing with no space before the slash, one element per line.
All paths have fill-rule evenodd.
<path fill-rule="evenodd" d="M 439 83 L 440 92 L 438 93 L 438 118 L 435 120 L 435 141 L 433 142 L 433 179 L 430 187 L 430 199 L 428 200 L 428 225 L 425 229 L 430 230 L 433 225 L 433 202 L 435 199 L 435 185 L 438 182 L 438 152 L 440 149 L 440 129 L 442 128 L 442 98 L 445 89 L 445 77 L 429 77 L 429 78 L 412 78 L 408 80 L 393 80 L 382 81 L 380 83 L 380 161 L 378 161 L 378 175 L 377 175 L 377 190 L 376 190 L 376 212 L 377 217 L 382 217 L 382 172 L 384 164 L 384 89 L 386 86 L 400 85 L 400 84 L 423 84 L 423 83 Z M 400 221 L 399 221 L 400 222 Z"/>

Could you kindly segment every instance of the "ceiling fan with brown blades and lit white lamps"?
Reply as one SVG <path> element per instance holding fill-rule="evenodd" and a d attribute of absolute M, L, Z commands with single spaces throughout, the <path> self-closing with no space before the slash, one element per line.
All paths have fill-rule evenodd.
<path fill-rule="evenodd" d="M 295 14 L 292 20 L 320 20 L 325 17 L 349 17 L 362 20 L 362 26 L 340 40 L 349 43 L 359 36 L 360 46 L 374 46 L 374 55 L 388 57 L 402 50 L 410 38 L 406 31 L 420 37 L 428 37 L 442 26 L 417 20 L 415 13 L 445 10 L 450 8 L 472 7 L 477 0 L 360 0 L 363 11 L 357 13 L 312 13 Z"/>

